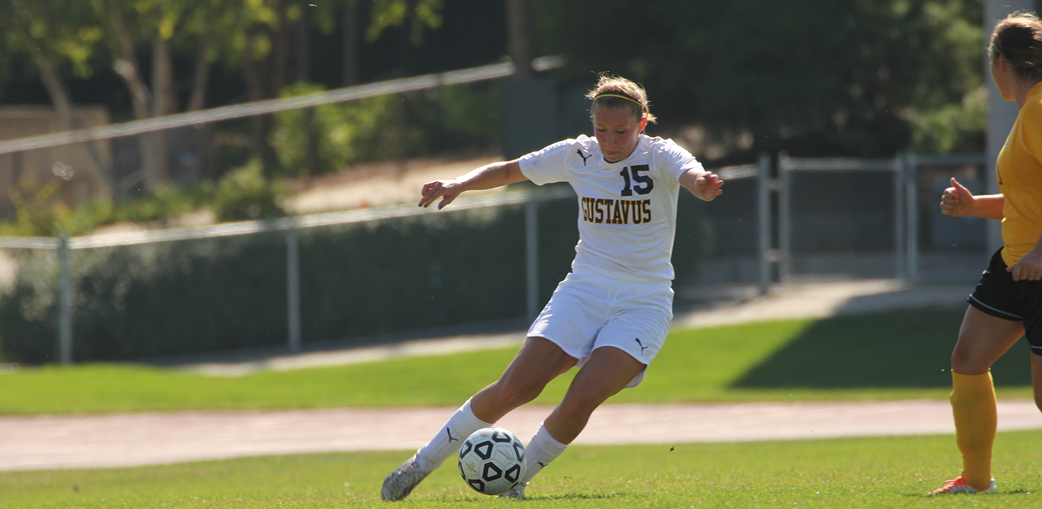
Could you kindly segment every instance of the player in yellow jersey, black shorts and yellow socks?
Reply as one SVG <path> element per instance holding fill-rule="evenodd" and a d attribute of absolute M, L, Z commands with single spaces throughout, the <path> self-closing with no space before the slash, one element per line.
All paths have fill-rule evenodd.
<path fill-rule="evenodd" d="M 941 197 L 948 215 L 1002 221 L 1003 246 L 967 299 L 951 353 L 951 409 L 963 475 L 934 493 L 993 491 L 995 389 L 991 364 L 1021 336 L 1031 343 L 1035 403 L 1042 408 L 1042 23 L 1012 15 L 988 50 L 995 87 L 1020 112 L 995 162 L 1000 195 L 973 196 L 951 179 Z"/>

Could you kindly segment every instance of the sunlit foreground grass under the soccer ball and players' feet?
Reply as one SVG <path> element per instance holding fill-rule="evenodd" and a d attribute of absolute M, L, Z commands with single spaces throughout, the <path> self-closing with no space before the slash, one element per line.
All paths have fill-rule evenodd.
<path fill-rule="evenodd" d="M 523 501 L 466 487 L 442 466 L 399 503 L 379 500 L 405 452 L 248 458 L 140 468 L 0 473 L 0 507 L 15 508 L 1028 508 L 1042 436 L 1001 433 L 999 491 L 926 497 L 953 477 L 950 436 L 813 441 L 575 447 Z"/>

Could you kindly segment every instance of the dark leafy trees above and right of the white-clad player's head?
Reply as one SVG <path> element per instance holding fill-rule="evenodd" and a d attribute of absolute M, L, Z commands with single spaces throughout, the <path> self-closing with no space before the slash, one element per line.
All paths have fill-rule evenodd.
<path fill-rule="evenodd" d="M 664 122 L 752 151 L 891 156 L 981 85 L 979 0 L 536 1 L 576 80 L 642 81 Z"/>

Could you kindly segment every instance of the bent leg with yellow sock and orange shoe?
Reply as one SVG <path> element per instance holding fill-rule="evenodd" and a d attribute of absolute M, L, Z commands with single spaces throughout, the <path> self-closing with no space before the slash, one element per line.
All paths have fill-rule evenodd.
<path fill-rule="evenodd" d="M 974 306 L 966 310 L 951 354 L 951 411 L 956 441 L 963 454 L 963 474 L 934 490 L 935 494 L 994 489 L 991 454 L 996 408 L 990 368 L 1024 329 L 1019 321 L 985 313 Z"/>

